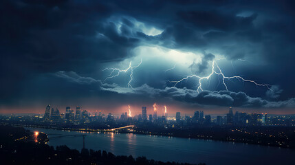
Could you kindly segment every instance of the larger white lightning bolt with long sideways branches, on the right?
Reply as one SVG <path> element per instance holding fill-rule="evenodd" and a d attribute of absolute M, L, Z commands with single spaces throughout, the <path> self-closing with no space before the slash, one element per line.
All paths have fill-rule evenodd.
<path fill-rule="evenodd" d="M 217 71 L 215 71 L 215 66 L 217 67 Z M 188 78 L 198 78 L 199 83 L 197 85 L 197 92 L 199 93 L 200 90 L 203 91 L 203 89 L 201 87 L 202 80 L 204 80 L 204 79 L 208 80 L 213 74 L 217 74 L 218 76 L 221 76 L 223 86 L 226 87 L 227 91 L 228 91 L 228 86 L 226 85 L 225 80 L 226 79 L 231 80 L 233 78 L 236 78 L 236 79 L 241 80 L 243 82 L 254 83 L 257 86 L 267 87 L 267 89 L 270 89 L 270 86 L 271 86 L 271 85 L 267 85 L 267 84 L 259 84 L 259 83 L 256 83 L 256 81 L 254 81 L 254 80 L 248 80 L 248 79 L 242 78 L 241 76 L 231 76 L 231 77 L 224 76 L 224 74 L 222 73 L 222 71 L 221 71 L 220 67 L 218 66 L 218 64 L 216 63 L 216 61 L 212 61 L 212 72 L 208 76 L 201 77 L 201 76 L 197 76 L 197 75 L 193 74 L 190 76 L 186 76 L 185 78 L 182 78 L 181 80 L 168 81 L 168 82 L 175 83 L 175 85 L 173 86 L 173 87 L 175 87 L 178 83 L 181 83 L 183 80 L 188 80 Z M 272 91 L 272 89 L 270 89 L 270 90 Z"/>

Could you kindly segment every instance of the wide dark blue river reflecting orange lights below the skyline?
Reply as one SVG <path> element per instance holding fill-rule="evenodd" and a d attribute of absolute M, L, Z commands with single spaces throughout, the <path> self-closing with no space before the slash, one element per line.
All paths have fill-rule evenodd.
<path fill-rule="evenodd" d="M 295 150 L 287 148 L 154 135 L 27 129 L 47 133 L 48 137 L 54 137 L 57 134 L 87 134 L 85 148 L 105 150 L 115 155 L 145 156 L 148 159 L 164 162 L 194 164 L 204 162 L 208 165 L 294 164 L 295 162 Z M 76 148 L 80 151 L 83 148 L 83 137 L 54 138 L 48 144 L 50 146 L 67 145 L 69 148 Z"/>

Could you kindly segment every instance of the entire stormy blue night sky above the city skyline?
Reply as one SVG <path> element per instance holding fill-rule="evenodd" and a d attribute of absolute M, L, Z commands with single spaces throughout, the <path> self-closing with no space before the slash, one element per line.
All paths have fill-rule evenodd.
<path fill-rule="evenodd" d="M 173 114 L 229 106 L 295 113 L 294 8 L 268 0 L 1 1 L 0 113 L 43 113 L 47 104 L 150 113 L 154 102 Z M 254 82 L 223 84 L 223 76 Z"/>

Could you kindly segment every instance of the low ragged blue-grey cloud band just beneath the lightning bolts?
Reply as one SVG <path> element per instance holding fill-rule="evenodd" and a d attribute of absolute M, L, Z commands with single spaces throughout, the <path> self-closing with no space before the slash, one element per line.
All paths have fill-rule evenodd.
<path fill-rule="evenodd" d="M 233 91 L 201 91 L 177 87 L 165 87 L 164 89 L 156 89 L 149 85 L 142 85 L 133 89 L 129 87 L 120 87 L 116 84 L 102 83 L 101 80 L 94 78 L 82 77 L 75 72 L 58 72 L 56 76 L 63 78 L 72 83 L 79 85 L 94 85 L 98 87 L 98 91 L 109 91 L 116 94 L 124 94 L 126 96 L 135 95 L 138 97 L 150 97 L 155 100 L 158 98 L 168 98 L 184 102 L 187 104 L 196 105 L 216 105 L 221 107 L 248 107 L 248 108 L 284 108 L 295 107 L 295 98 L 290 98 L 283 101 L 268 101 L 262 98 L 252 98 L 244 92 Z M 98 92 L 99 94 L 99 92 Z"/>

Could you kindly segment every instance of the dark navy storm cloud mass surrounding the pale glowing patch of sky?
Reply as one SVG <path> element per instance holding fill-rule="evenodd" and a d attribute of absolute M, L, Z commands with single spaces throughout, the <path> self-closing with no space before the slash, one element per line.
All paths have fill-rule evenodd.
<path fill-rule="evenodd" d="M 241 74 L 280 85 L 280 88 L 273 86 L 274 93 L 267 91 L 267 98 L 262 98 L 243 92 L 195 94 L 190 89 L 142 85 L 135 90 L 138 99 L 145 92 L 192 104 L 293 106 L 294 92 L 289 89 L 294 89 L 295 81 L 292 76 L 294 8 L 294 1 L 1 1 L 0 103 L 10 104 L 26 96 L 34 100 L 35 96 L 30 93 L 37 95 L 46 87 L 59 89 L 61 82 L 47 77 L 51 73 L 67 80 L 68 91 L 80 93 L 77 96 L 68 92 L 72 94 L 69 95 L 61 87 L 59 91 L 47 91 L 46 98 L 83 97 L 95 90 L 100 91 L 96 96 L 107 97 L 111 93 L 114 98 L 119 97 L 118 93 L 134 93 L 116 84 L 101 83 L 87 74 L 92 74 L 103 63 L 133 56 L 131 50 L 139 45 L 154 44 L 202 52 L 201 63 L 192 65 L 197 69 L 195 72 L 207 69 L 215 52 L 228 60 L 259 61 L 263 66 L 244 69 Z M 133 19 L 163 32 L 155 36 L 145 34 L 136 28 Z M 155 79 L 165 81 L 160 78 Z M 40 79 L 43 84 L 34 82 Z M 82 89 L 77 85 L 87 86 Z"/>

